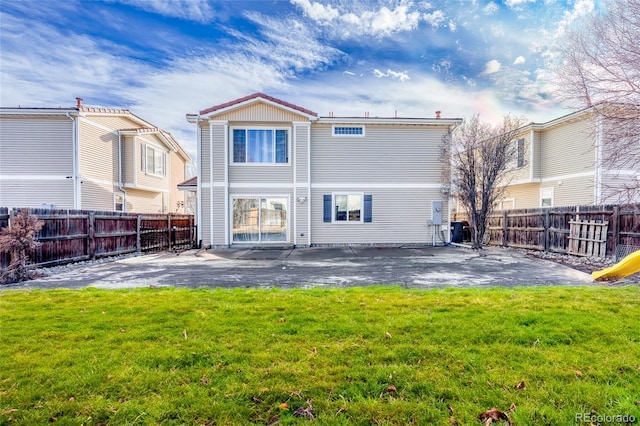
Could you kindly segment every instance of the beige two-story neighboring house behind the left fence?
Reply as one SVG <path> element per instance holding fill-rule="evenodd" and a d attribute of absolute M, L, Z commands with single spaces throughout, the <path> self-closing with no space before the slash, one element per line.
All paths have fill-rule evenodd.
<path fill-rule="evenodd" d="M 182 213 L 190 161 L 128 110 L 0 108 L 0 206 Z"/>

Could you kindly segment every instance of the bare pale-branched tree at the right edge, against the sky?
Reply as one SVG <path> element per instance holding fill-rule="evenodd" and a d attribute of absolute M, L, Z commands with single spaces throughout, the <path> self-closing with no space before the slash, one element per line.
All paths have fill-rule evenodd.
<path fill-rule="evenodd" d="M 607 11 L 577 22 L 560 40 L 556 69 L 562 100 L 590 108 L 593 139 L 610 174 L 610 198 L 640 196 L 640 0 L 610 0 Z M 618 176 L 615 176 L 619 174 Z"/>

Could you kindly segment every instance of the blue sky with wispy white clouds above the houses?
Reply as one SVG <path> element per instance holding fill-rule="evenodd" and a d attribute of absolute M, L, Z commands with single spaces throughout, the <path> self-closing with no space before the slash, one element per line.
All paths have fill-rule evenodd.
<path fill-rule="evenodd" d="M 0 0 L 0 104 L 185 114 L 254 92 L 328 115 L 544 122 L 554 45 L 603 0 Z"/>

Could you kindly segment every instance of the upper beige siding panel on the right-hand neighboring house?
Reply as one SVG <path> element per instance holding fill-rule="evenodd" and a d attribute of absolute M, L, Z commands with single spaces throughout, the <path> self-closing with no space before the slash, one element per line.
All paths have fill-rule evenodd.
<path fill-rule="evenodd" d="M 542 134 L 542 179 L 592 171 L 594 140 L 589 121 L 573 121 Z"/>

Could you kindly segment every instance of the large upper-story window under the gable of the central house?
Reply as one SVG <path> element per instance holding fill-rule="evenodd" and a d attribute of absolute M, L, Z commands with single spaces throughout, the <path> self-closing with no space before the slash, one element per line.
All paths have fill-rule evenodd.
<path fill-rule="evenodd" d="M 289 131 L 285 129 L 233 129 L 234 163 L 289 162 Z"/>

